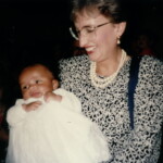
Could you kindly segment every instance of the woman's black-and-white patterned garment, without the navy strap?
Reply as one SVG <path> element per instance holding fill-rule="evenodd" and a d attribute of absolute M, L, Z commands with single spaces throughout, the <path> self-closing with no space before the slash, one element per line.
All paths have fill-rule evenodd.
<path fill-rule="evenodd" d="M 163 122 L 163 63 L 152 57 L 140 62 L 135 93 L 134 123 L 129 127 L 128 80 L 130 60 L 104 89 L 90 82 L 87 55 L 60 61 L 61 87 L 74 92 L 83 113 L 96 122 L 108 138 L 112 163 L 156 163 Z"/>

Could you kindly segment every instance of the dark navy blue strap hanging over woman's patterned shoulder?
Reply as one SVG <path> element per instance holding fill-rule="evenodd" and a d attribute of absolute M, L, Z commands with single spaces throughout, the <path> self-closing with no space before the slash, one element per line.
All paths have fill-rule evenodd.
<path fill-rule="evenodd" d="M 134 93 L 138 83 L 139 63 L 141 57 L 134 57 L 130 63 L 128 82 L 128 111 L 130 118 L 130 128 L 134 129 Z"/>

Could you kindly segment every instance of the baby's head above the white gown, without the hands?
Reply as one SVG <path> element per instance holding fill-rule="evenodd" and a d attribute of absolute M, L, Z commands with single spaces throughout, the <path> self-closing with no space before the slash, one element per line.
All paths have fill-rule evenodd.
<path fill-rule="evenodd" d="M 42 65 L 35 65 L 25 68 L 20 76 L 20 86 L 24 100 L 40 98 L 48 91 L 53 90 L 52 74 Z"/>

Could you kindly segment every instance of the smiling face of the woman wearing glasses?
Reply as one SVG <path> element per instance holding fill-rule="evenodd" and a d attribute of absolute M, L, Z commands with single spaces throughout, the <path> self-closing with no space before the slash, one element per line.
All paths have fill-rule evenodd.
<path fill-rule="evenodd" d="M 105 24 L 108 23 L 108 24 Z M 84 28 L 97 27 L 93 33 L 84 34 Z M 78 13 L 75 21 L 76 29 L 79 30 L 79 46 L 85 48 L 91 61 L 101 62 L 108 60 L 117 47 L 117 24 L 99 13 L 88 15 L 86 12 Z"/>

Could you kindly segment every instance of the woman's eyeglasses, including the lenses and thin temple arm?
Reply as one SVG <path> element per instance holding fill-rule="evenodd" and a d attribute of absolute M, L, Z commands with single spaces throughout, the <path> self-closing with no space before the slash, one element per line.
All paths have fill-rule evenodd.
<path fill-rule="evenodd" d="M 101 26 L 104 26 L 106 24 L 110 24 L 111 22 L 106 22 L 106 23 L 103 23 L 103 24 L 100 24 L 98 26 L 85 26 L 84 28 L 82 28 L 80 30 L 76 30 L 75 27 L 70 27 L 70 32 L 71 32 L 71 35 L 76 39 L 78 40 L 79 37 L 83 35 L 83 36 L 86 36 L 86 37 L 92 37 L 95 36 L 96 34 L 96 29 L 101 27 Z"/>

